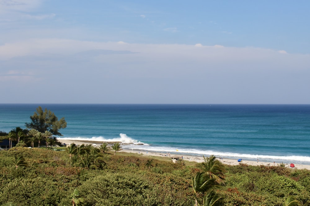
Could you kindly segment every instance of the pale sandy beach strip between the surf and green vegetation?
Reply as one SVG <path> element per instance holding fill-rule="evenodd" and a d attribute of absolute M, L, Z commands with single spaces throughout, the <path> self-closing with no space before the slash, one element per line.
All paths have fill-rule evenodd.
<path fill-rule="evenodd" d="M 99 141 L 77 141 L 77 140 L 60 140 L 60 142 L 65 143 L 66 145 L 70 145 L 71 143 L 75 143 L 78 145 L 89 145 L 89 144 L 95 144 L 96 146 L 100 146 L 103 142 Z M 135 149 L 126 149 L 122 148 L 121 152 L 127 152 L 127 153 L 140 153 L 143 154 L 144 156 L 162 156 L 166 157 L 166 153 L 161 153 L 161 152 L 148 152 L 148 151 L 141 151 L 141 150 L 135 150 Z M 170 154 L 168 157 L 172 157 L 175 154 Z M 178 154 L 178 156 L 183 156 L 183 160 L 185 161 L 191 161 L 191 162 L 203 162 L 203 156 L 191 156 L 191 155 L 186 155 L 186 154 Z M 237 159 L 228 159 L 228 158 L 220 158 L 218 157 L 218 160 L 222 162 L 223 164 L 227 165 L 238 165 L 240 162 L 238 162 Z M 275 164 L 270 163 L 270 162 L 257 162 L 257 161 L 249 161 L 249 160 L 242 160 L 242 164 L 247 164 L 247 165 L 254 165 L 254 166 L 259 166 L 259 165 L 265 165 L 265 166 L 277 166 L 281 162 L 276 162 Z M 286 164 L 286 167 L 290 166 L 290 163 L 294 162 L 283 162 Z M 302 165 L 302 164 L 295 164 L 295 169 L 307 169 L 310 170 L 310 165 Z"/>

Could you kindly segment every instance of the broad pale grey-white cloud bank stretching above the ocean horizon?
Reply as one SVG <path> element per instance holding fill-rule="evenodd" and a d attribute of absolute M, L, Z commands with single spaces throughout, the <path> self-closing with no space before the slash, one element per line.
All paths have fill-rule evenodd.
<path fill-rule="evenodd" d="M 275 92 L 267 103 L 290 103 L 285 99 L 288 95 L 295 95 L 296 89 L 309 88 L 310 55 L 283 55 L 272 49 L 200 43 L 193 46 L 32 39 L 0 45 L 0 65 L 0 88 L 10 88 L 4 89 L 3 95 L 27 94 L 33 86 L 57 78 L 64 83 L 56 84 L 55 90 L 88 95 L 89 101 L 100 92 L 103 98 L 96 99 L 95 103 L 104 103 L 106 99 L 107 103 L 141 103 L 145 99 L 148 103 L 180 103 L 189 97 L 192 103 L 206 103 L 210 98 L 218 103 L 247 103 L 249 99 L 252 99 L 249 103 L 264 103 L 260 99 L 266 96 L 257 97 L 257 94 L 265 94 L 271 88 Z M 279 73 L 283 74 L 281 78 Z M 276 89 L 275 85 L 278 85 Z M 287 88 L 290 88 L 289 94 Z M 43 92 L 44 88 L 38 87 L 38 90 Z M 171 97 L 171 93 L 178 92 L 182 95 Z M 299 94 L 305 92 L 306 89 Z M 208 97 L 201 99 L 202 93 Z M 129 94 L 131 99 L 124 98 Z M 61 98 L 59 94 L 52 97 L 68 103 L 81 102 L 67 92 Z M 296 98 L 299 98 L 296 103 L 306 102 L 304 95 Z M 20 99 L 27 96 L 10 101 L 23 101 Z M 38 97 L 31 101 L 39 100 Z"/>

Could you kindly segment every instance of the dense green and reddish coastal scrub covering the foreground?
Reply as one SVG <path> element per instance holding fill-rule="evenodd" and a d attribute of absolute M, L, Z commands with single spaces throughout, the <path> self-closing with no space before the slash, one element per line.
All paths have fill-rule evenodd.
<path fill-rule="evenodd" d="M 191 165 L 92 145 L 0 151 L 0 205 L 310 205 L 310 171 Z M 221 170 L 211 173 L 205 163 Z M 152 165 L 153 169 L 148 169 Z M 208 164 L 209 166 L 212 164 Z M 151 168 L 151 167 L 150 167 Z M 209 169 L 210 169 L 209 168 Z M 224 170 L 223 170 L 224 169 Z"/>

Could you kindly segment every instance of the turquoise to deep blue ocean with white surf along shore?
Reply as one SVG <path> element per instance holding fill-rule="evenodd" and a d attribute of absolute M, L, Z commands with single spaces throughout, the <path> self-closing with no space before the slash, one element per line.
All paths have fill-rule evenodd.
<path fill-rule="evenodd" d="M 25 128 L 38 106 L 65 118 L 60 141 L 310 165 L 310 105 L 0 104 L 0 131 Z"/>

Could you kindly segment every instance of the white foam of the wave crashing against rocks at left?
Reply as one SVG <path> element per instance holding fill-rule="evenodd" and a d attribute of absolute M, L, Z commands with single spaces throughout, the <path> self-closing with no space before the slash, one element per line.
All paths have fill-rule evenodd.
<path fill-rule="evenodd" d="M 57 139 L 61 140 L 77 140 L 77 141 L 98 141 L 98 142 L 122 142 L 122 143 L 132 143 L 132 144 L 145 144 L 143 142 L 137 141 L 132 139 L 131 137 L 128 137 L 126 134 L 119 134 L 120 137 L 116 138 L 110 138 L 106 139 L 102 136 L 100 137 L 91 137 L 91 138 L 86 138 L 86 137 L 58 137 Z"/>

